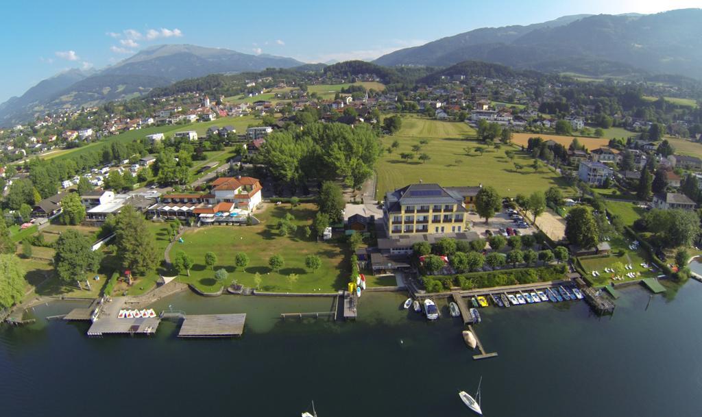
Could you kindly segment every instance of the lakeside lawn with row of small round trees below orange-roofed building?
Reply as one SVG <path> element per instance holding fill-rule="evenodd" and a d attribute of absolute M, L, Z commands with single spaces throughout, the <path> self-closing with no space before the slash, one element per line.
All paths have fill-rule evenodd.
<path fill-rule="evenodd" d="M 255 287 L 254 275 L 260 273 L 263 278 L 262 291 L 268 292 L 334 292 L 343 289 L 347 282 L 348 268 L 344 268 L 345 245 L 338 243 L 312 242 L 300 235 L 296 237 L 279 236 L 275 224 L 287 212 L 295 217 L 293 223 L 298 226 L 309 225 L 316 213 L 313 205 L 300 205 L 295 209 L 289 205 L 267 207 L 259 219 L 262 223 L 257 226 L 204 226 L 187 231 L 183 235 L 183 244 L 176 244 L 171 249 L 171 259 L 179 250 L 185 251 L 194 259 L 194 267 L 190 277 L 180 275 L 179 280 L 197 286 L 206 292 L 215 292 L 220 288 L 214 272 L 206 268 L 204 256 L 206 252 L 215 252 L 218 262 L 215 270 L 225 268 L 229 273 L 230 285 L 237 280 L 246 287 Z M 249 256 L 246 268 L 235 268 L 234 257 L 238 252 Z M 279 254 L 285 261 L 279 272 L 273 272 L 268 266 L 268 259 Z M 322 267 L 314 273 L 305 268 L 305 256 L 317 254 L 322 258 Z M 291 273 L 298 274 L 298 282 L 292 287 L 286 278 Z"/>

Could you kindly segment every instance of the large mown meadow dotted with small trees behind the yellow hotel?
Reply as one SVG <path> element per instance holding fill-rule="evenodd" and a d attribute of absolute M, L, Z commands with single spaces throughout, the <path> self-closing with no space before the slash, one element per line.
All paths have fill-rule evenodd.
<path fill-rule="evenodd" d="M 409 162 L 402 160 L 400 153 L 411 152 L 411 147 L 419 144 L 420 139 L 428 141 L 428 144 L 421 145 L 420 153 L 428 153 L 431 159 L 426 163 L 421 163 L 416 157 Z M 482 156 L 475 151 L 467 155 L 466 147 L 475 149 L 482 145 L 475 140 L 475 130 L 466 123 L 405 116 L 399 132 L 382 138 L 383 148 L 387 149 L 395 140 L 399 142 L 399 148 L 390 154 L 384 153 L 376 165 L 377 198 L 381 198 L 386 191 L 420 180 L 443 186 L 490 185 L 503 196 L 544 191 L 550 186 L 561 186 L 567 194 L 571 194 L 564 180 L 545 166 L 534 172 L 529 166 L 532 159 L 515 147 L 489 149 Z M 515 162 L 524 165 L 519 172 L 505 156 L 508 149 L 515 151 Z"/>

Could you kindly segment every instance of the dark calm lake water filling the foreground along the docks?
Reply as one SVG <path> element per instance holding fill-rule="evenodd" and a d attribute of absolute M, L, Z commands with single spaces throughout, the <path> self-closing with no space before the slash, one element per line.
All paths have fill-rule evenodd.
<path fill-rule="evenodd" d="M 499 357 L 472 360 L 461 323 L 428 323 L 402 294 L 366 293 L 355 323 L 286 320 L 329 299 L 181 293 L 157 308 L 246 312 L 241 339 L 85 336 L 39 320 L 0 329 L 2 416 L 471 416 L 458 390 L 483 376 L 486 416 L 700 416 L 702 284 L 649 296 L 623 289 L 611 317 L 583 301 L 482 310 L 477 333 Z M 34 308 L 45 317 L 75 305 Z"/>

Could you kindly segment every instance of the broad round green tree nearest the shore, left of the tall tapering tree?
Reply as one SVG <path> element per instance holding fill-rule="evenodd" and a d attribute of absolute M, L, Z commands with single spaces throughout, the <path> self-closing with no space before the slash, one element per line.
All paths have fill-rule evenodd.
<path fill-rule="evenodd" d="M 88 271 L 98 271 L 102 252 L 93 252 L 93 243 L 79 231 L 69 229 L 61 233 L 55 247 L 53 265 L 60 280 L 82 280 Z"/>

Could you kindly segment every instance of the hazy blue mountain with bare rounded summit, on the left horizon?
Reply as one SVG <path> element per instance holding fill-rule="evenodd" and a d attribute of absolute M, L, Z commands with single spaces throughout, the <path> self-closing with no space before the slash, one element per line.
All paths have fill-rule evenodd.
<path fill-rule="evenodd" d="M 135 97 L 185 78 L 302 64 L 288 57 L 223 48 L 154 46 L 100 71 L 70 69 L 41 81 L 21 97 L 0 104 L 0 125 L 24 123 L 50 111 Z"/>

